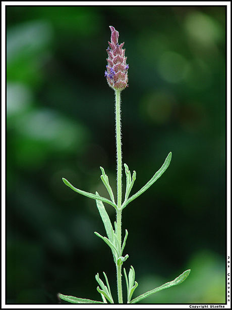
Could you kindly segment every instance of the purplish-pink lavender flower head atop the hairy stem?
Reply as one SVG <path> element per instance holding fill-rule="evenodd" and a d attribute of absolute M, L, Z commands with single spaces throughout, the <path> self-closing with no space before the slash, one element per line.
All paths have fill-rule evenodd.
<path fill-rule="evenodd" d="M 111 30 L 111 42 L 108 41 L 109 47 L 106 50 L 108 64 L 106 66 L 105 77 L 113 90 L 124 90 L 128 84 L 128 68 L 126 64 L 125 50 L 123 50 L 124 42 L 119 45 L 119 31 L 113 26 L 109 26 Z"/>

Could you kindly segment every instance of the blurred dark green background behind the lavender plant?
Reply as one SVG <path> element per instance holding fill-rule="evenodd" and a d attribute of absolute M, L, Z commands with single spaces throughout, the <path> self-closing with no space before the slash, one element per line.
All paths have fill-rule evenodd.
<path fill-rule="evenodd" d="M 57 303 L 58 292 L 101 300 L 103 271 L 117 300 L 110 249 L 94 235 L 105 234 L 95 201 L 62 182 L 107 196 L 102 166 L 115 191 L 109 25 L 130 66 L 122 142 L 137 172 L 132 194 L 172 152 L 123 212 L 134 297 L 191 269 L 143 302 L 225 302 L 225 20 L 223 6 L 6 8 L 8 303 Z"/>

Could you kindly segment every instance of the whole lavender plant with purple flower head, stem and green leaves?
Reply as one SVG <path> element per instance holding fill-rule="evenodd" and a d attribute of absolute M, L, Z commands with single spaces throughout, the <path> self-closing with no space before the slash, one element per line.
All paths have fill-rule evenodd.
<path fill-rule="evenodd" d="M 121 148 L 121 92 L 128 86 L 127 82 L 128 82 L 129 66 L 126 64 L 127 57 L 125 57 L 125 50 L 123 50 L 124 43 L 122 43 L 121 45 L 119 45 L 118 43 L 119 32 L 115 30 L 114 27 L 112 26 L 110 26 L 110 30 L 111 30 L 111 42 L 108 42 L 110 48 L 108 47 L 108 49 L 106 50 L 108 53 L 108 59 L 107 59 L 108 64 L 106 66 L 107 70 L 105 71 L 105 77 L 107 79 L 109 86 L 113 88 L 115 92 L 115 131 L 116 131 L 116 148 L 117 148 L 117 203 L 114 200 L 114 195 L 109 185 L 108 176 L 106 175 L 102 167 L 100 167 L 101 172 L 102 172 L 101 180 L 104 186 L 106 187 L 111 200 L 101 197 L 97 192 L 95 194 L 91 194 L 91 193 L 79 190 L 75 188 L 72 184 L 70 184 L 64 178 L 63 178 L 63 181 L 67 186 L 69 186 L 75 192 L 96 200 L 97 208 L 99 210 L 102 222 L 104 224 L 107 237 L 103 237 L 97 232 L 95 232 L 95 234 L 99 238 L 101 238 L 110 247 L 112 251 L 113 260 L 115 262 L 116 270 L 117 270 L 118 302 L 123 303 L 122 265 L 123 265 L 123 262 L 129 257 L 129 255 L 126 254 L 125 256 L 123 256 L 124 255 L 123 251 L 124 251 L 127 237 L 128 237 L 128 231 L 126 230 L 125 237 L 122 242 L 122 210 L 131 201 L 133 201 L 135 198 L 137 198 L 142 193 L 144 193 L 163 174 L 163 172 L 169 166 L 169 163 L 171 160 L 171 152 L 167 155 L 163 165 L 153 175 L 151 180 L 141 190 L 139 190 L 136 194 L 134 194 L 130 198 L 129 196 L 130 196 L 132 187 L 134 185 L 134 182 L 136 180 L 136 172 L 133 171 L 133 174 L 131 174 L 131 171 L 129 170 L 128 165 L 124 164 L 125 173 L 126 173 L 126 194 L 125 194 L 125 199 L 123 201 L 122 199 L 122 148 Z M 105 210 L 103 202 L 108 203 L 115 208 L 116 221 L 114 222 L 114 228 L 112 227 L 112 224 Z M 131 266 L 129 274 L 127 275 L 127 272 L 124 269 L 124 275 L 125 275 L 126 285 L 127 285 L 127 303 L 136 303 L 155 292 L 171 287 L 173 285 L 180 284 L 188 277 L 189 273 L 190 273 L 190 270 L 187 270 L 183 274 L 181 274 L 179 277 L 177 277 L 175 280 L 171 282 L 167 282 L 160 287 L 157 287 L 134 299 L 131 299 L 134 290 L 138 286 L 138 283 L 135 281 L 135 270 Z M 97 291 L 101 294 L 103 301 L 83 299 L 83 298 L 67 296 L 63 294 L 59 294 L 60 298 L 63 300 L 72 302 L 72 303 L 107 303 L 107 301 L 110 303 L 114 303 L 113 297 L 111 295 L 108 279 L 104 272 L 103 272 L 103 275 L 105 278 L 106 285 L 99 278 L 99 274 L 95 276 L 96 281 L 99 284 L 99 286 L 97 287 Z"/>

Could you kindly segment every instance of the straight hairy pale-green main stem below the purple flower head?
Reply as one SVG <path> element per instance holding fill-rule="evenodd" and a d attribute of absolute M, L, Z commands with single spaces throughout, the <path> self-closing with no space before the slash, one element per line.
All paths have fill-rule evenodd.
<path fill-rule="evenodd" d="M 121 91 L 115 91 L 115 123 L 116 123 L 116 149 L 117 149 L 117 237 L 119 240 L 119 252 L 121 252 L 122 244 L 122 145 L 121 145 Z M 117 284 L 118 284 L 118 298 L 119 303 L 123 303 L 123 291 L 122 291 L 122 264 L 117 268 Z"/>

